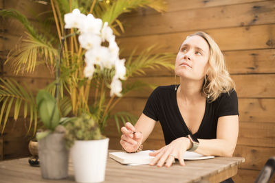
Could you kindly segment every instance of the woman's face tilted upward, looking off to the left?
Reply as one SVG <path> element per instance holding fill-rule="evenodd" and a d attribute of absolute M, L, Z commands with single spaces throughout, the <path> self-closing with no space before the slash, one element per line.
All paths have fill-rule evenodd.
<path fill-rule="evenodd" d="M 201 36 L 190 36 L 177 53 L 175 73 L 190 80 L 203 80 L 208 69 L 210 50 Z"/>

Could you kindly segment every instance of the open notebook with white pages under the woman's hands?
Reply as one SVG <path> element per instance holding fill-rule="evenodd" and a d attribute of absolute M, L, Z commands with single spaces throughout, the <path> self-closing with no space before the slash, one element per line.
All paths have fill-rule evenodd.
<path fill-rule="evenodd" d="M 111 152 L 109 153 L 110 158 L 120 162 L 121 164 L 128 165 L 139 165 L 149 164 L 153 160 L 153 156 L 149 156 L 151 151 L 140 151 L 138 153 L 129 154 L 126 152 Z M 186 151 L 184 154 L 184 160 L 205 160 L 214 158 L 214 156 L 203 156 L 195 152 Z"/>

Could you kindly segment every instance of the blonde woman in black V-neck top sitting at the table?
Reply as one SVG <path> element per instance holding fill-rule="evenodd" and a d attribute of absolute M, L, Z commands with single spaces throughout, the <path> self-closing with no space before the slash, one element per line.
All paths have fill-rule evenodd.
<path fill-rule="evenodd" d="M 157 87 L 135 126 L 121 128 L 122 148 L 139 151 L 159 121 L 166 146 L 150 154 L 155 156 L 151 165 L 170 167 L 177 158 L 183 166 L 188 150 L 232 156 L 239 132 L 238 99 L 216 42 L 204 32 L 188 36 L 177 53 L 175 74 L 180 84 Z"/>

